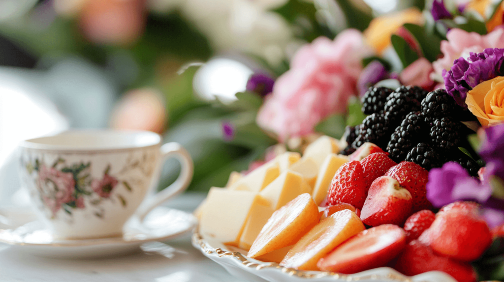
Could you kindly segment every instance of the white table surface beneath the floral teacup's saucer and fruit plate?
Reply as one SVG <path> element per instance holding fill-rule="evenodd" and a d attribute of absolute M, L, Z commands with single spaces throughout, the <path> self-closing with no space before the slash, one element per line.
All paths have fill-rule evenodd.
<path fill-rule="evenodd" d="M 166 206 L 193 211 L 205 194 L 184 194 Z M 0 281 L 80 282 L 233 282 L 220 265 L 191 245 L 191 234 L 163 242 L 158 252 L 144 252 L 102 259 L 54 259 L 24 253 L 22 247 L 0 243 Z M 171 248 L 171 247 L 172 248 Z"/>

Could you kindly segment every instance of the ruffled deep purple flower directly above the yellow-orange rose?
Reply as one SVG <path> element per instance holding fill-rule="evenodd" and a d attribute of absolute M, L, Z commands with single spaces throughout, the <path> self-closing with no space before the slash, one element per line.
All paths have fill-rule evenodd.
<path fill-rule="evenodd" d="M 502 75 L 504 49 L 487 48 L 481 53 L 470 53 L 469 59 L 456 59 L 449 71 L 443 70 L 446 90 L 457 104 L 467 108 L 467 92 L 479 83 Z"/>

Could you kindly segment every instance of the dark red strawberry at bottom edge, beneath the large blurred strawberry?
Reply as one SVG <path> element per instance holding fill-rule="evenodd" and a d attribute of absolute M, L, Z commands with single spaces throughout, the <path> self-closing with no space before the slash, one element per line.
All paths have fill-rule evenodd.
<path fill-rule="evenodd" d="M 469 263 L 459 262 L 435 254 L 428 246 L 418 240 L 411 241 L 399 255 L 394 268 L 408 276 L 427 271 L 443 271 L 459 282 L 476 282 L 476 272 Z"/>

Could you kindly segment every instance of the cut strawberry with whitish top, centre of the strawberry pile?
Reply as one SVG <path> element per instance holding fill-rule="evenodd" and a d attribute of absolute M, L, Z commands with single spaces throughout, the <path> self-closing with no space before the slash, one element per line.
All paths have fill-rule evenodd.
<path fill-rule="evenodd" d="M 390 176 L 376 178 L 367 194 L 360 219 L 367 225 L 396 224 L 402 226 L 410 215 L 411 194 Z"/>

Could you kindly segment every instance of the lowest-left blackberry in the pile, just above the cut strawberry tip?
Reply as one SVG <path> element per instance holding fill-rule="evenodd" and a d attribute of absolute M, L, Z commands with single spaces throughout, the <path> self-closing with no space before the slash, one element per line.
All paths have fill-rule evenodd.
<path fill-rule="evenodd" d="M 389 134 L 389 122 L 385 115 L 371 114 L 362 121 L 359 135 L 352 143 L 352 147 L 358 148 L 365 142 L 371 142 L 384 149 L 387 146 Z"/>

